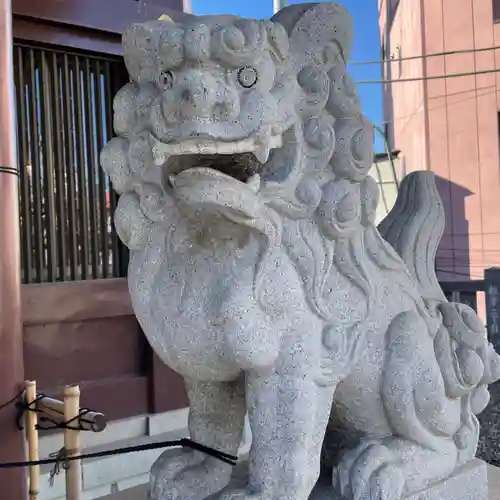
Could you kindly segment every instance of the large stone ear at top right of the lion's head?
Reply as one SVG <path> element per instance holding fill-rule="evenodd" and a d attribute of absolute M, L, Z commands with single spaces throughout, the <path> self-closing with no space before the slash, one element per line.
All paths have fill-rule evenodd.
<path fill-rule="evenodd" d="M 347 10 L 337 3 L 295 4 L 280 10 L 271 21 L 288 33 L 290 53 L 297 69 L 304 66 L 333 66 L 339 58 L 347 63 L 353 22 Z"/>

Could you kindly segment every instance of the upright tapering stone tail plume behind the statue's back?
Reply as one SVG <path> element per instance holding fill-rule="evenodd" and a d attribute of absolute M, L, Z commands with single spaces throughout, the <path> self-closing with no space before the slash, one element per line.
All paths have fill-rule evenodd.
<path fill-rule="evenodd" d="M 435 271 L 444 225 L 445 213 L 434 173 L 422 170 L 403 179 L 396 204 L 378 226 L 382 237 L 419 283 L 426 302 L 446 301 Z"/>

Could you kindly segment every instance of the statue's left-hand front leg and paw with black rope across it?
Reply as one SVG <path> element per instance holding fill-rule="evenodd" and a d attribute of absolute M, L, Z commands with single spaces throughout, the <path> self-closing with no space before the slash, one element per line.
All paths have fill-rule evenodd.
<path fill-rule="evenodd" d="M 230 383 L 186 381 L 189 436 L 231 455 L 241 443 L 245 418 L 243 378 Z M 194 450 L 167 450 L 151 469 L 150 500 L 201 500 L 223 489 L 232 466 Z"/>

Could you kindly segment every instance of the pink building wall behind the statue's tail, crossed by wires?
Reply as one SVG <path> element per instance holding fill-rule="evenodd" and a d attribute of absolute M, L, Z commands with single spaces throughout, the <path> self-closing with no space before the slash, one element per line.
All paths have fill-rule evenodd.
<path fill-rule="evenodd" d="M 383 15 L 380 25 L 383 33 Z M 493 23 L 491 0 L 402 0 L 391 44 L 393 54 L 401 46 L 402 57 L 491 47 L 500 45 L 500 25 Z M 496 59 L 488 51 L 408 61 L 392 78 L 500 68 L 500 51 Z M 429 168 L 442 178 L 447 225 L 437 267 L 448 271 L 443 279 L 481 278 L 484 267 L 500 266 L 499 84 L 499 74 L 392 84 L 394 146 L 407 171 Z"/>

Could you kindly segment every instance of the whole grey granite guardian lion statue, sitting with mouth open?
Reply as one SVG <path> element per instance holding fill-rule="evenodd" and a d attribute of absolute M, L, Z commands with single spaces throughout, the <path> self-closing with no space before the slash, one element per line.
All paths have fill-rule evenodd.
<path fill-rule="evenodd" d="M 185 379 L 191 439 L 235 454 L 246 415 L 253 439 L 237 484 L 213 457 L 165 452 L 153 500 L 306 500 L 321 457 L 329 498 L 399 500 L 475 455 L 500 358 L 436 280 L 432 174 L 375 225 L 352 36 L 334 3 L 123 35 L 131 81 L 101 163 L 133 308 Z"/>

